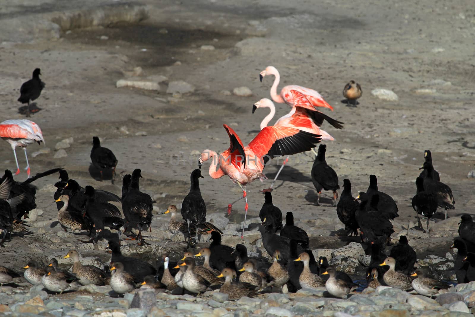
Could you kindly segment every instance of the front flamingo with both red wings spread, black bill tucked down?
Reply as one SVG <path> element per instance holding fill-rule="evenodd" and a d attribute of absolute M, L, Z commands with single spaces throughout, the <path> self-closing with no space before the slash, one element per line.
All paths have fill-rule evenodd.
<path fill-rule="evenodd" d="M 295 153 L 308 151 L 315 147 L 315 144 L 320 142 L 320 136 L 307 132 L 300 131 L 290 127 L 265 127 L 257 136 L 244 147 L 243 143 L 228 125 L 223 124 L 224 129 L 228 132 L 229 140 L 231 142 L 229 148 L 221 154 L 216 153 L 210 149 L 205 149 L 201 152 L 201 157 L 198 160 L 198 166 L 212 158 L 211 166 L 209 167 L 209 176 L 217 179 L 228 175 L 228 177 L 237 184 L 246 199 L 246 207 L 244 214 L 244 227 L 246 226 L 247 216 L 247 194 L 246 185 L 259 178 L 261 181 L 266 178 L 262 170 L 266 163 L 276 157 Z M 228 214 L 231 214 L 232 205 L 228 205 Z M 241 233 L 241 239 L 244 237 L 244 227 Z"/>

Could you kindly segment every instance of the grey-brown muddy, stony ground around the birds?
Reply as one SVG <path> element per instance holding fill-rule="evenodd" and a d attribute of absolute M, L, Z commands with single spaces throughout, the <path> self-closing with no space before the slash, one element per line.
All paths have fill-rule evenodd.
<path fill-rule="evenodd" d="M 282 77 L 279 87 L 302 84 L 316 89 L 334 107 L 334 112 L 323 111 L 345 122 L 343 130 L 323 125 L 323 130 L 336 139 L 327 142 L 327 162 L 337 171 L 340 183 L 349 178 L 356 196 L 358 191 L 366 191 L 369 175 L 376 174 L 380 190 L 398 202 L 400 216 L 394 223 L 393 240 L 407 234 L 421 265 L 431 266 L 440 278 L 453 279 L 453 253 L 447 254 L 448 247 L 458 235 L 460 215 L 475 213 L 475 140 L 471 133 L 475 128 L 474 49 L 470 40 L 475 33 L 475 16 L 471 2 L 235 2 L 41 0 L 13 1 L 1 7 L 1 116 L 24 118 L 17 113 L 16 99 L 21 83 L 35 67 L 41 68 L 41 78 L 46 83 L 37 100 L 43 110 L 32 117 L 43 130 L 46 147 L 28 147 L 32 173 L 61 166 L 83 186 L 119 194 L 122 176 L 141 168 L 141 188 L 153 197 L 155 206 L 152 233 L 146 236 L 152 246 L 139 248 L 128 242 L 123 252 L 152 263 L 158 261 L 163 251 L 171 252 L 174 258 L 181 257 L 181 237 L 167 240 L 171 238 L 166 232 L 169 217 L 161 212 L 170 204 L 180 207 L 201 150 L 228 148 L 223 123 L 237 131 L 245 143 L 257 134 L 266 111 L 251 114 L 252 104 L 268 97 L 272 84 L 268 77 L 260 83 L 258 73 L 267 65 L 274 65 Z M 363 89 L 357 107 L 347 107 L 342 102 L 342 88 L 351 79 Z M 377 92 L 372 93 L 376 89 L 390 90 L 398 98 L 380 99 Z M 276 107 L 277 118 L 290 110 L 286 105 Z M 119 159 L 115 184 L 110 180 L 100 182 L 89 166 L 95 135 Z M 2 166 L 14 169 L 6 142 L 3 149 Z M 451 186 L 456 200 L 456 209 L 449 211 L 449 218 L 442 221 L 443 214 L 438 213 L 428 233 L 413 229 L 416 219 L 410 206 L 424 149 L 432 151 L 435 168 L 441 180 Z M 18 151 L 18 155 L 20 165 L 24 166 L 22 152 Z M 266 167 L 269 178 L 274 177 L 281 161 L 275 159 L 275 165 Z M 356 247 L 351 254 L 334 253 L 357 240 L 334 234 L 342 224 L 331 206 L 331 193 L 323 196 L 321 206 L 314 205 L 316 195 L 310 179 L 313 161 L 313 154 L 309 153 L 290 158 L 289 166 L 276 183 L 274 204 L 284 213 L 293 211 L 296 224 L 311 236 L 315 255 L 334 257 L 336 265 L 350 263 L 343 269 L 361 279 L 358 272 L 367 260 L 362 254 L 364 250 Z M 25 178 L 24 172 L 16 177 Z M 83 235 L 64 233 L 59 226 L 50 228 L 57 215 L 52 203 L 56 190 L 52 184 L 56 180 L 56 176 L 51 176 L 35 182 L 38 209 L 30 214 L 29 220 L 33 234 L 5 243 L 0 250 L 1 265 L 19 270 L 30 258 L 43 262 L 52 257 L 59 260 L 71 248 L 84 257 L 98 257 L 104 263 L 110 260 L 103 251 L 104 242 L 95 249 L 77 241 L 84 239 Z M 257 181 L 247 187 L 251 222 L 257 221 L 253 217 L 263 203 L 259 190 L 269 184 L 270 181 Z M 223 243 L 235 246 L 240 241 L 237 230 L 243 220 L 244 203 L 237 203 L 229 217 L 226 209 L 229 202 L 240 196 L 239 188 L 226 177 L 213 180 L 206 174 L 201 188 L 208 220 L 226 230 Z M 251 252 L 266 255 L 259 237 L 258 232 L 247 233 L 246 244 Z M 200 246 L 208 244 L 206 237 L 201 243 Z M 342 256 L 348 261 L 341 261 Z M 69 267 L 66 260 L 60 263 Z M 27 291 L 26 284 L 13 289 L 4 287 L 0 290 L 0 302 L 17 303 L 11 308 L 20 312 L 21 303 L 36 295 L 31 291 L 26 295 Z M 13 293 L 16 295 L 10 296 Z M 263 295 L 258 303 L 243 299 L 249 302 L 216 304 L 219 307 L 213 306 L 210 294 L 195 299 L 168 298 L 170 295 L 161 293 L 157 305 L 163 314 L 171 315 L 180 313 L 172 311 L 177 305 L 197 313 L 199 308 L 194 305 L 198 304 L 203 314 L 209 315 L 210 309 L 215 308 L 216 316 L 225 315 L 223 308 L 234 312 L 238 306 L 246 308 L 243 315 L 247 311 L 276 311 L 274 303 L 266 304 L 270 301 L 296 315 L 307 314 L 307 308 L 329 316 L 343 310 L 364 315 L 370 314 L 369 307 L 374 303 L 377 306 L 372 315 L 383 314 L 383 308 L 390 308 L 385 305 L 401 310 L 398 314 L 403 316 L 425 310 L 443 314 L 449 309 L 430 300 L 409 300 L 402 293 L 398 293 L 399 297 L 379 293 L 354 295 L 345 302 L 319 298 L 321 293 L 317 297 L 305 292 L 269 298 Z M 119 309 L 120 314 L 131 305 L 130 296 L 114 299 L 92 293 L 91 299 L 89 293 L 48 298 L 45 293 L 39 295 L 45 300 L 45 311 L 52 315 L 70 314 L 73 309 L 86 314 L 104 305 L 113 307 L 106 309 Z M 379 300 L 381 296 L 396 302 Z M 299 301 L 300 297 L 304 299 Z M 472 307 L 473 299 L 450 300 L 466 301 Z M 428 304 L 414 306 L 418 301 Z M 445 303 L 449 302 L 442 304 Z M 351 310 L 355 309 L 352 307 L 366 313 Z M 257 309 L 262 311 L 256 312 Z M 138 316 L 144 314 L 135 312 Z M 111 310 L 109 313 L 112 314 Z M 132 316 L 134 310 L 126 313 Z M 161 316 L 161 312 L 156 313 Z M 284 310 L 275 314 L 286 316 Z"/>

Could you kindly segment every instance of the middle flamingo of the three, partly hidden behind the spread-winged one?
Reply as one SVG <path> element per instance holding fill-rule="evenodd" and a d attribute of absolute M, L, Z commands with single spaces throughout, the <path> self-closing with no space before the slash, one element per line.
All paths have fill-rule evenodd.
<path fill-rule="evenodd" d="M 328 121 L 333 127 L 337 129 L 342 129 L 343 122 L 337 121 L 323 112 L 315 110 L 314 106 L 308 101 L 303 93 L 300 93 L 296 90 L 291 90 L 292 97 L 294 100 L 294 107 L 292 110 L 287 113 L 285 116 L 281 117 L 274 123 L 274 126 L 279 127 L 292 127 L 298 130 L 307 131 L 313 134 L 321 135 L 322 140 L 335 140 L 328 132 L 320 129 L 324 120 Z M 267 99 L 261 99 L 252 106 L 252 113 L 256 111 L 257 108 L 270 108 L 270 113 L 262 120 L 261 130 L 264 129 L 269 121 L 274 118 L 276 114 L 276 106 L 274 103 Z M 315 155 L 314 149 L 311 149 Z M 263 189 L 262 192 L 271 192 L 276 182 L 277 177 L 279 177 L 280 172 L 284 168 L 285 164 L 288 162 L 288 157 L 285 158 L 282 166 L 278 170 L 276 177 L 272 181 L 272 184 L 269 188 Z"/>

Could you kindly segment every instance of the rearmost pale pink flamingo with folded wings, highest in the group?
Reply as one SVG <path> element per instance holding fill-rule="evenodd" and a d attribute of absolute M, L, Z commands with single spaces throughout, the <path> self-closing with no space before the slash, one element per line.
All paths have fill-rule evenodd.
<path fill-rule="evenodd" d="M 279 85 L 280 81 L 280 75 L 279 71 L 276 69 L 274 66 L 267 66 L 265 70 L 263 70 L 259 74 L 259 79 L 262 82 L 262 78 L 266 75 L 274 75 L 276 76 L 276 79 L 274 79 L 274 84 L 272 84 L 272 87 L 270 87 L 270 96 L 272 97 L 272 100 L 274 100 L 276 103 L 287 103 L 289 106 L 294 105 L 294 98 L 292 96 L 292 93 L 290 93 L 291 90 L 296 90 L 305 95 L 305 97 L 308 99 L 308 101 L 314 106 L 314 107 L 324 107 L 324 108 L 329 108 L 330 110 L 333 111 L 333 107 L 329 105 L 322 97 L 320 93 L 317 91 L 302 87 L 299 85 L 288 85 L 282 88 L 279 94 L 277 94 L 277 86 Z"/>

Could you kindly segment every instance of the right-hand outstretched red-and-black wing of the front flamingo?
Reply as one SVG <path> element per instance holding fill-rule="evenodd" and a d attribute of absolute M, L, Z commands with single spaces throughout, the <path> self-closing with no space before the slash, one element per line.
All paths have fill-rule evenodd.
<path fill-rule="evenodd" d="M 248 147 L 264 164 L 276 156 L 308 151 L 320 142 L 320 135 L 289 127 L 269 126 L 262 129 Z"/>

